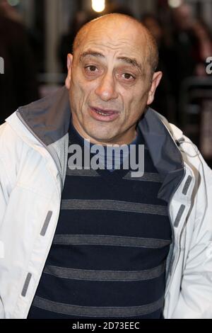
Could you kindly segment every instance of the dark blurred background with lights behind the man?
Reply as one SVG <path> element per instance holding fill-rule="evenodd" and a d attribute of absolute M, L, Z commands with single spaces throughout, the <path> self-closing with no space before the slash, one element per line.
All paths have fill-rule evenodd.
<path fill-rule="evenodd" d="M 0 0 L 0 123 L 64 85 L 78 29 L 112 12 L 134 16 L 155 36 L 163 80 L 152 107 L 212 166 L 212 0 Z"/>

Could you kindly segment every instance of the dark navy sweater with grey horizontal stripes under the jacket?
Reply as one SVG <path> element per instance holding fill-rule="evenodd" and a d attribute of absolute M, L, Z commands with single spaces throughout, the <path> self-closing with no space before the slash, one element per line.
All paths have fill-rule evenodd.
<path fill-rule="evenodd" d="M 83 147 L 73 125 L 69 143 Z M 28 318 L 163 317 L 171 227 L 141 132 L 138 145 L 145 146 L 140 178 L 123 167 L 67 166 L 57 229 Z"/>

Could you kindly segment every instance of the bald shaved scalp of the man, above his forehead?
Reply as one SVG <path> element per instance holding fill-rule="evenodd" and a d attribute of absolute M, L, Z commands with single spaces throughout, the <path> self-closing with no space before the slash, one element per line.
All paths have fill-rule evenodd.
<path fill-rule="evenodd" d="M 110 30 L 112 32 L 112 37 L 116 36 L 119 32 L 129 32 L 130 29 L 131 33 L 138 39 L 138 43 L 141 44 L 141 51 L 143 52 L 143 47 L 146 48 L 146 62 L 150 65 L 151 74 L 153 74 L 158 67 L 158 46 L 155 38 L 141 22 L 136 20 L 136 18 L 121 13 L 106 14 L 86 23 L 78 31 L 76 38 L 73 41 L 73 57 L 78 50 L 78 47 L 80 47 L 86 38 L 88 38 L 91 31 L 102 28 L 109 30 L 110 25 L 114 27 Z"/>

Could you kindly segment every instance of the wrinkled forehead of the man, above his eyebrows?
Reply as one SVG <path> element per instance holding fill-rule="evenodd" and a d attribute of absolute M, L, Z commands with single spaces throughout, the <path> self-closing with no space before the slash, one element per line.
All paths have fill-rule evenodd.
<path fill-rule="evenodd" d="M 131 22 L 102 21 L 93 23 L 81 37 L 77 53 L 94 48 L 105 52 L 105 56 L 120 54 L 136 57 L 140 62 L 146 62 L 148 57 L 148 41 L 145 30 Z"/>

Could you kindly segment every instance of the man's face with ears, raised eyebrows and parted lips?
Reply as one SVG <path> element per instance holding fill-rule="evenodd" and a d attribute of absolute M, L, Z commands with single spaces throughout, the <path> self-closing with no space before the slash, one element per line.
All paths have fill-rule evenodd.
<path fill-rule="evenodd" d="M 161 77 L 160 72 L 151 76 L 146 43 L 132 23 L 102 20 L 89 29 L 74 57 L 69 55 L 66 87 L 73 125 L 90 142 L 134 140 L 136 123 Z"/>

